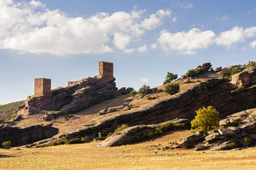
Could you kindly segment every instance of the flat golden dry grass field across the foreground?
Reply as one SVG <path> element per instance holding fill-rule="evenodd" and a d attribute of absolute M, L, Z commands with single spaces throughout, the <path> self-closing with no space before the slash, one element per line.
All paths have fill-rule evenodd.
<path fill-rule="evenodd" d="M 189 130 L 137 145 L 96 148 L 99 143 L 33 149 L 0 149 L 0 169 L 255 169 L 256 148 L 238 151 L 167 149 Z"/>

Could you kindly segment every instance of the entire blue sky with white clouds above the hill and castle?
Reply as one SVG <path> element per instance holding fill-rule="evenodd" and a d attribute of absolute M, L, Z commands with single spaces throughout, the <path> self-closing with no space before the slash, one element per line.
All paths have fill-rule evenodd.
<path fill-rule="evenodd" d="M 52 89 L 114 63 L 117 87 L 159 86 L 203 62 L 255 61 L 256 1 L 0 0 L 0 104 Z"/>

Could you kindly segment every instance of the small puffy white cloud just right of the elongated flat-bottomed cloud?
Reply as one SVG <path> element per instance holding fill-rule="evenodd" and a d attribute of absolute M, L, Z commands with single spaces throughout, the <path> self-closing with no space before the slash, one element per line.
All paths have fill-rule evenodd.
<path fill-rule="evenodd" d="M 234 42 L 240 42 L 244 40 L 244 30 L 238 26 L 235 26 L 231 30 L 226 30 L 215 39 L 217 45 L 230 46 Z"/>

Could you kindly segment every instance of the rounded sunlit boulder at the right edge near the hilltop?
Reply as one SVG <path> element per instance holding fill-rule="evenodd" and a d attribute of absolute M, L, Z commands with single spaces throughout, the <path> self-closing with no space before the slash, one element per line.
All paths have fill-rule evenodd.
<path fill-rule="evenodd" d="M 242 72 L 234 74 L 232 76 L 232 84 L 235 84 L 235 86 L 241 87 L 241 86 L 252 86 L 256 84 L 256 67 L 249 67 L 247 69 L 244 69 Z"/>

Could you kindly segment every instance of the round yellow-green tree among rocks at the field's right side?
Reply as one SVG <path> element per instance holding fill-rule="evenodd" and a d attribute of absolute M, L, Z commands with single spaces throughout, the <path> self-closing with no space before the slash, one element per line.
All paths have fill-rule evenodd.
<path fill-rule="evenodd" d="M 201 130 L 208 132 L 213 130 L 213 128 L 219 125 L 219 115 L 220 113 L 213 108 L 213 106 L 199 108 L 198 111 L 196 111 L 195 119 L 191 121 L 191 130 L 194 132 Z"/>

